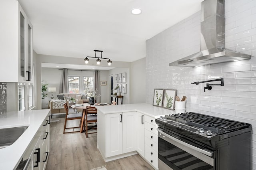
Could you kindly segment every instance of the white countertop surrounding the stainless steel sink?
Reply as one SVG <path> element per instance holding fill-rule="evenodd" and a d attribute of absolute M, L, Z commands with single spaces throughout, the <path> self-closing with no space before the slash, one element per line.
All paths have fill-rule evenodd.
<path fill-rule="evenodd" d="M 34 138 L 50 109 L 14 111 L 0 115 L 0 128 L 28 126 L 12 145 L 0 149 L 0 170 L 12 170 L 20 162 L 26 148 Z"/>

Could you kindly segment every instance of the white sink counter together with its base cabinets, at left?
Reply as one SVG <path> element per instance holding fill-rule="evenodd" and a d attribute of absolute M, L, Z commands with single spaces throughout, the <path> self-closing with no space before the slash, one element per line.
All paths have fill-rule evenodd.
<path fill-rule="evenodd" d="M 13 111 L 0 115 L 0 129 L 28 127 L 13 144 L 0 149 L 1 170 L 16 169 L 19 162 L 24 160 L 30 162 L 28 167 L 37 166 L 39 169 L 45 169 L 50 142 L 49 111 Z"/>

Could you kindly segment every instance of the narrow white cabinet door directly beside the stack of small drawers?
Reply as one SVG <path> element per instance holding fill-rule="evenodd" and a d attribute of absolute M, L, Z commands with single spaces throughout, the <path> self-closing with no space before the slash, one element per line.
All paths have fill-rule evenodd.
<path fill-rule="evenodd" d="M 136 150 L 144 157 L 145 154 L 145 116 L 142 113 L 137 112 L 137 122 L 136 122 Z"/>

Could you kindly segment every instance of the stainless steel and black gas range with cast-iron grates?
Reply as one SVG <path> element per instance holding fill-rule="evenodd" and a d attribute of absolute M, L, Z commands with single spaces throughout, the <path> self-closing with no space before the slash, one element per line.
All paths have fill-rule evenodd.
<path fill-rule="evenodd" d="M 252 126 L 181 113 L 156 119 L 160 170 L 250 170 Z"/>

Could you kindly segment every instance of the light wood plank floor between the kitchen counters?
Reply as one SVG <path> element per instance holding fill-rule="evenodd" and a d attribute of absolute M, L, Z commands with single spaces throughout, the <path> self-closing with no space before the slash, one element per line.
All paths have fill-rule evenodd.
<path fill-rule="evenodd" d="M 80 132 L 63 134 L 64 116 L 52 116 L 50 154 L 46 170 L 90 170 L 103 165 L 107 170 L 153 170 L 138 154 L 105 162 L 97 149 L 97 133 L 88 134 L 88 138 Z M 54 120 L 59 121 L 53 122 Z M 68 122 L 79 124 L 77 120 L 72 121 Z"/>

